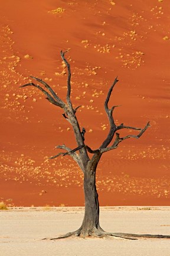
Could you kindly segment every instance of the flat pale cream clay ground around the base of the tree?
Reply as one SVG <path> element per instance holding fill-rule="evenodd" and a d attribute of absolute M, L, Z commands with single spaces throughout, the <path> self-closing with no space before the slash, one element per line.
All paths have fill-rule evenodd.
<path fill-rule="evenodd" d="M 150 209 L 150 210 L 149 210 Z M 100 225 L 110 232 L 169 235 L 170 207 L 102 207 Z M 168 239 L 80 239 L 41 241 L 41 238 L 74 231 L 83 220 L 83 208 L 50 210 L 15 209 L 0 212 L 1 255 L 138 255 L 169 256 Z"/>

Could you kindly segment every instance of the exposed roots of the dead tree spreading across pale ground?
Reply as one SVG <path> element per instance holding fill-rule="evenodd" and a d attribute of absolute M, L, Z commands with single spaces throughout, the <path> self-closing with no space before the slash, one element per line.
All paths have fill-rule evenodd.
<path fill-rule="evenodd" d="M 65 235 L 57 236 L 56 238 L 43 238 L 42 240 L 57 240 L 57 239 L 63 239 L 63 238 L 122 238 L 122 239 L 129 239 L 129 240 L 138 240 L 138 239 L 170 239 L 170 235 L 149 235 L 149 234 L 133 234 L 133 233 L 110 233 L 105 232 L 103 230 L 97 230 L 96 231 L 89 231 L 89 235 L 84 235 L 84 233 L 81 233 L 80 229 L 74 232 L 66 233 Z"/>

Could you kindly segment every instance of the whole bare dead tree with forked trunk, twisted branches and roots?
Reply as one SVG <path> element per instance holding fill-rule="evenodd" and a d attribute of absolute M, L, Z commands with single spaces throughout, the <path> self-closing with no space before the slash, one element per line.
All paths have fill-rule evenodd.
<path fill-rule="evenodd" d="M 113 119 L 113 111 L 117 106 L 114 105 L 111 108 L 109 108 L 108 106 L 110 96 L 112 94 L 112 90 L 115 87 L 116 83 L 118 82 L 116 77 L 115 81 L 113 82 L 113 85 L 109 89 L 109 92 L 107 94 L 107 97 L 104 103 L 104 108 L 110 124 L 109 133 L 98 149 L 93 150 L 90 148 L 90 146 L 86 145 L 84 140 L 86 130 L 84 128 L 80 129 L 79 121 L 77 120 L 77 117 L 76 117 L 76 111 L 80 106 L 74 108 L 70 98 L 71 70 L 70 70 L 70 64 L 65 58 L 65 53 L 66 52 L 61 51 L 61 58 L 66 64 L 67 71 L 68 71 L 66 102 L 61 100 L 61 98 L 58 97 L 57 94 L 55 94 L 54 90 L 46 82 L 34 76 L 31 76 L 31 78 L 35 79 L 41 85 L 44 85 L 45 89 L 43 89 L 40 85 L 34 84 L 33 82 L 21 86 L 21 87 L 33 86 L 40 89 L 40 91 L 42 91 L 47 96 L 47 100 L 50 101 L 50 103 L 63 109 L 64 111 L 63 117 L 73 127 L 74 135 L 77 142 L 77 148 L 70 149 L 66 145 L 61 145 L 61 146 L 59 145 L 56 148 L 64 149 L 64 151 L 66 152 L 60 152 L 57 155 L 51 157 L 51 159 L 57 158 L 60 155 L 63 155 L 63 156 L 69 155 L 71 156 L 71 158 L 74 159 L 74 161 L 77 162 L 77 164 L 79 165 L 79 167 L 81 168 L 84 174 L 85 212 L 84 212 L 84 219 L 81 227 L 77 231 L 67 233 L 66 235 L 58 236 L 57 238 L 49 238 L 49 239 L 67 238 L 68 236 L 80 236 L 83 238 L 87 236 L 101 237 L 101 238 L 105 236 L 113 236 L 113 237 L 120 237 L 125 239 L 170 238 L 170 236 L 163 236 L 163 235 L 135 235 L 135 234 L 129 234 L 129 233 L 108 233 L 103 231 L 102 228 L 100 228 L 99 200 L 98 200 L 98 194 L 96 189 L 96 168 L 97 168 L 97 165 L 99 164 L 100 158 L 103 155 L 103 153 L 116 149 L 117 146 L 119 146 L 119 143 L 123 142 L 123 140 L 130 139 L 130 138 L 139 139 L 139 137 L 143 135 L 146 129 L 148 129 L 150 124 L 148 122 L 144 128 L 126 126 L 123 123 L 120 124 L 119 126 L 116 126 L 115 120 Z M 139 131 L 139 133 L 138 135 L 127 135 L 125 137 L 120 137 L 118 131 L 121 129 L 137 130 Z M 92 156 L 88 153 L 90 153 Z"/>

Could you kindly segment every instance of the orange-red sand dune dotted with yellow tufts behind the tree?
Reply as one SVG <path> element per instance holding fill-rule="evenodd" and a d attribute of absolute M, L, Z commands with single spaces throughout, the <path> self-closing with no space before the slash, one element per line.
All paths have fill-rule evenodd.
<path fill-rule="evenodd" d="M 76 147 L 70 125 L 41 92 L 19 89 L 34 75 L 64 100 L 60 50 L 71 49 L 71 95 L 74 105 L 83 105 L 77 117 L 87 145 L 95 149 L 107 136 L 103 103 L 117 75 L 110 100 L 120 105 L 116 123 L 152 126 L 139 140 L 103 155 L 100 204 L 169 205 L 169 17 L 165 0 L 1 3 L 1 200 L 15 206 L 84 205 L 76 164 L 68 156 L 47 158 L 58 152 L 56 145 Z"/>

